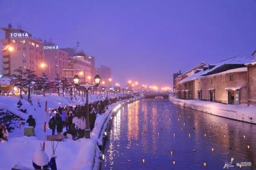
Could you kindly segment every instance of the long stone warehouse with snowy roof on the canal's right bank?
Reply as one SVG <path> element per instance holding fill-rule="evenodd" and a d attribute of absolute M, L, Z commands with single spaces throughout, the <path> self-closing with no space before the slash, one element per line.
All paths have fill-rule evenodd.
<path fill-rule="evenodd" d="M 246 62 L 250 59 L 236 56 L 223 60 L 216 64 L 209 64 L 204 68 L 194 70 L 183 80 L 176 80 L 177 90 L 175 96 L 182 99 L 204 100 L 210 102 L 219 102 L 224 104 L 248 104 L 248 99 L 254 95 L 248 82 L 248 78 L 254 83 L 255 74 L 252 70 L 250 78 L 251 65 L 246 67 Z M 249 87 L 249 88 L 248 88 Z M 249 90 L 248 90 L 249 89 Z M 249 96 L 249 97 L 248 97 Z M 253 101 L 252 97 L 252 101 Z"/>

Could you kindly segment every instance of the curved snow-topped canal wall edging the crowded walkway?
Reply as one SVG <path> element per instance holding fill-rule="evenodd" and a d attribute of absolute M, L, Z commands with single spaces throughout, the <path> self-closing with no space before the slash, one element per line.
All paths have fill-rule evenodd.
<path fill-rule="evenodd" d="M 141 99 L 144 99 L 144 97 L 130 98 L 127 100 L 116 102 L 108 106 L 106 112 L 96 118 L 94 129 L 90 133 L 90 140 L 94 141 L 94 154 L 90 154 L 93 157 L 93 161 L 88 163 L 92 165 L 92 170 L 98 170 L 102 162 L 101 160 L 104 159 L 104 155 L 102 154 L 102 148 L 105 143 L 107 129 L 111 123 L 112 116 L 116 114 L 116 112 L 122 106 Z"/>

